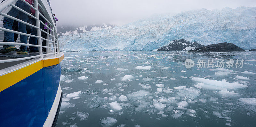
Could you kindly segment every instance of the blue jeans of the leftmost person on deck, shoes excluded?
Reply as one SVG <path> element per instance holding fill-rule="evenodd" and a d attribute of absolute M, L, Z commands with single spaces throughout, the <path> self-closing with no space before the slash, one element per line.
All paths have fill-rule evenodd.
<path fill-rule="evenodd" d="M 18 0 L 15 5 L 17 7 L 19 7 L 20 9 L 29 13 L 30 7 L 27 4 L 25 4 L 24 2 L 22 2 L 21 0 Z M 18 15 L 20 20 L 22 20 L 24 22 L 28 21 L 28 15 L 15 9 L 15 8 L 12 8 L 7 14 L 12 17 L 16 17 Z M 13 25 L 13 20 L 11 18 L 4 17 L 4 28 L 12 30 L 12 25 Z M 18 26 L 19 26 L 19 32 L 27 33 L 26 24 L 19 22 Z M 14 42 L 13 33 L 4 31 L 4 39 L 6 42 Z M 28 36 L 20 35 L 21 43 L 27 44 L 27 40 L 28 40 Z M 27 50 L 27 46 L 20 46 L 20 49 Z"/>

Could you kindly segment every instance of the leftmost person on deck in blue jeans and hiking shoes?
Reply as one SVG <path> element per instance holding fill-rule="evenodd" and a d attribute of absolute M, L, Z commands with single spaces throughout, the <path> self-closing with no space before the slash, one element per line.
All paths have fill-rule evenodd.
<path fill-rule="evenodd" d="M 32 1 L 34 0 L 25 0 L 29 4 L 32 4 Z M 19 7 L 20 9 L 26 11 L 29 13 L 30 7 L 24 3 L 21 0 L 18 0 L 15 4 L 15 6 Z M 28 21 L 28 15 L 15 9 L 12 8 L 8 13 L 9 16 L 16 17 L 17 15 L 19 16 L 19 19 L 27 22 Z M 4 28 L 12 30 L 12 25 L 13 25 L 14 20 L 11 18 L 4 17 Z M 26 25 L 23 23 L 19 22 L 19 32 L 27 33 L 26 31 Z M 14 35 L 12 32 L 6 32 L 4 31 L 4 39 L 6 42 L 14 42 Z M 20 42 L 27 44 L 28 36 L 26 35 L 20 35 Z M 16 47 L 14 45 L 5 45 L 1 50 L 0 53 L 9 53 L 11 51 L 16 50 Z M 27 52 L 27 46 L 20 46 L 20 50 L 17 51 L 19 54 L 28 54 Z"/>

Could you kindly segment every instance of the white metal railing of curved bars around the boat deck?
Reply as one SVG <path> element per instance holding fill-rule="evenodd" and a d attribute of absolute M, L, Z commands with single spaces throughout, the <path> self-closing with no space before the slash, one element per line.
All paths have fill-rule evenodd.
<path fill-rule="evenodd" d="M 59 53 L 59 39 L 58 39 L 57 29 L 56 29 L 56 19 L 52 13 L 47 1 L 46 0 L 34 0 L 34 6 L 32 6 L 25 0 L 21 0 L 25 4 L 28 4 L 28 6 L 30 8 L 33 8 L 35 10 L 35 16 L 33 16 L 33 15 L 29 14 L 28 12 L 15 6 L 17 1 L 18 0 L 5 0 L 2 3 L 0 3 L 0 21 L 4 17 L 7 17 L 7 18 L 11 18 L 15 21 L 18 21 L 20 23 L 23 23 L 25 25 L 34 27 L 37 30 L 37 36 L 31 35 L 31 34 L 26 34 L 23 32 L 14 31 L 14 30 L 5 29 L 3 27 L 0 27 L 0 31 L 12 32 L 12 33 L 20 34 L 20 35 L 25 35 L 28 37 L 35 37 L 35 38 L 37 38 L 38 45 L 16 43 L 16 42 L 3 42 L 2 39 L 0 40 L 0 45 L 19 45 L 19 46 L 38 47 L 39 53 L 38 53 L 38 55 L 35 55 L 35 56 L 28 56 L 28 57 L 9 59 L 9 60 L 0 60 L 0 63 L 13 62 L 13 61 L 19 61 L 19 60 L 27 60 L 27 59 L 32 59 L 32 58 L 43 59 L 43 56 L 45 56 L 45 55 Z M 43 13 L 39 12 L 38 7 L 41 9 L 41 11 Z M 29 24 L 27 22 L 24 22 L 24 21 L 18 19 L 18 18 L 8 15 L 8 12 L 12 8 L 15 8 L 15 9 L 25 13 L 26 15 L 30 16 L 31 18 L 34 18 L 36 20 L 36 25 Z M 47 22 L 47 25 L 45 25 L 45 23 L 39 19 L 39 16 L 42 17 L 45 22 Z M 40 28 L 40 24 L 43 24 L 47 28 L 46 32 L 42 28 Z M 46 34 L 46 38 L 41 37 L 41 32 L 44 32 Z M 42 40 L 46 41 L 46 46 L 42 46 Z M 43 48 L 46 48 L 45 53 L 43 53 Z"/>

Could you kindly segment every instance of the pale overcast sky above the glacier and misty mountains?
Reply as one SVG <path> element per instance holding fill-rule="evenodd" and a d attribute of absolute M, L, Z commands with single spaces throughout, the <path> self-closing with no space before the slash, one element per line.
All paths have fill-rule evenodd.
<path fill-rule="evenodd" d="M 256 0 L 50 0 L 58 25 L 126 23 L 155 14 L 195 9 L 255 7 Z"/>

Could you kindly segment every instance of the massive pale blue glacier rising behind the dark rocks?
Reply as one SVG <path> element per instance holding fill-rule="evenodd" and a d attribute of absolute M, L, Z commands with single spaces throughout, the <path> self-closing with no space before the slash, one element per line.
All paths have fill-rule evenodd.
<path fill-rule="evenodd" d="M 152 51 L 186 39 L 256 48 L 256 7 L 193 10 L 157 15 L 110 29 L 59 37 L 61 51 Z"/>

